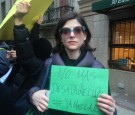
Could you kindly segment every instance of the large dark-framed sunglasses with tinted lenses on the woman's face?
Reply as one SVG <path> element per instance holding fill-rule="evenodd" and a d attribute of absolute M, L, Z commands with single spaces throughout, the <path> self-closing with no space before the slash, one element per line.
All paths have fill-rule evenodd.
<path fill-rule="evenodd" d="M 64 35 L 64 36 L 69 36 L 71 34 L 71 32 L 73 32 L 75 36 L 78 36 L 82 32 L 84 33 L 85 30 L 86 29 L 84 26 L 77 26 L 77 27 L 74 27 L 73 30 L 71 30 L 70 28 L 66 28 L 66 27 L 61 28 L 61 29 L 59 29 L 59 32 L 61 35 Z"/>

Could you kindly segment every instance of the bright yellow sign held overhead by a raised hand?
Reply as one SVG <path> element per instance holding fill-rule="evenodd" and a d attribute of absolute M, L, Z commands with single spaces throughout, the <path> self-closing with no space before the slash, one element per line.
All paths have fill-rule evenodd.
<path fill-rule="evenodd" d="M 17 0 L 15 4 L 21 2 L 23 0 Z M 29 13 L 23 18 L 24 24 L 30 30 L 35 23 L 35 21 L 42 16 L 51 5 L 53 0 L 26 0 L 30 2 L 31 8 Z M 14 19 L 13 15 L 16 12 L 15 4 L 8 12 L 5 19 L 0 24 L 0 40 L 12 40 L 13 39 L 13 26 L 14 26 Z"/>

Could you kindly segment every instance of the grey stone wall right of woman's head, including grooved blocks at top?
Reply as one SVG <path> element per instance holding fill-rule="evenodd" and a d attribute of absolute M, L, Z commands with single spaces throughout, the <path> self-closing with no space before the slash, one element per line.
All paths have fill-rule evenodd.
<path fill-rule="evenodd" d="M 96 48 L 95 57 L 108 67 L 109 19 L 107 15 L 92 12 L 92 3 L 99 0 L 80 0 L 80 13 L 85 17 L 92 34 L 90 45 Z"/>

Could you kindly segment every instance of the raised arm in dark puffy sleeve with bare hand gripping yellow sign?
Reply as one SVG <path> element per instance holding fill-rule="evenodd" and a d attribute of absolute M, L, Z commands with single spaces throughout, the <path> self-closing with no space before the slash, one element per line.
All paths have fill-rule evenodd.
<path fill-rule="evenodd" d="M 35 57 L 29 41 L 29 31 L 23 24 L 23 17 L 29 12 L 30 4 L 23 1 L 17 4 L 16 8 L 13 33 L 17 60 L 31 76 L 38 78 L 44 63 Z"/>

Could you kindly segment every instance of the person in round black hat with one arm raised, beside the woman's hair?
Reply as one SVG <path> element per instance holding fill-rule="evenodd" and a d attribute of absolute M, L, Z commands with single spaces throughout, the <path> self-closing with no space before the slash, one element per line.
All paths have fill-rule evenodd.
<path fill-rule="evenodd" d="M 31 45 L 35 56 L 41 60 L 45 60 L 50 56 L 50 51 L 52 51 L 52 46 L 47 45 L 48 40 L 40 35 L 40 29 L 43 22 L 43 16 L 40 16 L 36 23 L 34 23 L 33 28 L 30 32 Z"/>

